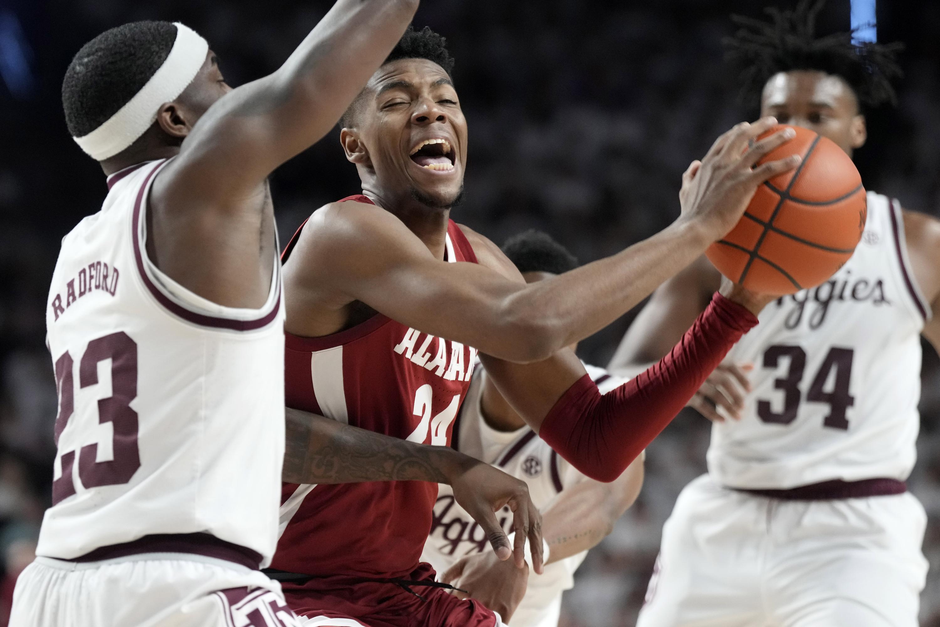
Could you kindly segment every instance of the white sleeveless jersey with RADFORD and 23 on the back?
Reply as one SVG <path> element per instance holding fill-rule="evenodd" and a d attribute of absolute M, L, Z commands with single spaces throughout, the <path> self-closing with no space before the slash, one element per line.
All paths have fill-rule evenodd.
<path fill-rule="evenodd" d="M 108 180 L 62 240 L 46 311 L 59 412 L 39 556 L 208 533 L 274 553 L 284 456 L 280 263 L 260 309 L 217 306 L 147 257 L 147 197 L 166 162 Z"/>

